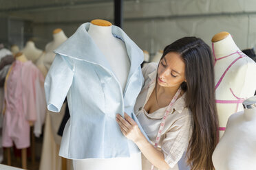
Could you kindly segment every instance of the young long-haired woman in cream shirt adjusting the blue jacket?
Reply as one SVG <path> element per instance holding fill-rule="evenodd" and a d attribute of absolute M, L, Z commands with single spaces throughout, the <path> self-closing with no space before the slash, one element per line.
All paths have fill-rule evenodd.
<path fill-rule="evenodd" d="M 191 169 L 214 169 L 218 119 L 210 47 L 200 38 L 181 38 L 142 73 L 145 84 L 134 111 L 151 142 L 127 114 L 116 116 L 122 134 L 144 155 L 142 169 L 178 169 L 184 151 Z"/>

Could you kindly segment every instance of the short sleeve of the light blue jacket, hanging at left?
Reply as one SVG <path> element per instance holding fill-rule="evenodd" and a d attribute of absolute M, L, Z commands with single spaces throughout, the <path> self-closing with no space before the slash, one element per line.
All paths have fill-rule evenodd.
<path fill-rule="evenodd" d="M 74 76 L 74 60 L 56 54 L 45 78 L 45 99 L 47 109 L 60 112 Z"/>

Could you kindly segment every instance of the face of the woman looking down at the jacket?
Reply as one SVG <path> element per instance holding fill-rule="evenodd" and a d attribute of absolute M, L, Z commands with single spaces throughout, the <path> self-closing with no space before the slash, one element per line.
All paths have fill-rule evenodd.
<path fill-rule="evenodd" d="M 179 53 L 169 52 L 158 66 L 158 84 L 163 87 L 178 87 L 185 78 L 185 63 Z"/>

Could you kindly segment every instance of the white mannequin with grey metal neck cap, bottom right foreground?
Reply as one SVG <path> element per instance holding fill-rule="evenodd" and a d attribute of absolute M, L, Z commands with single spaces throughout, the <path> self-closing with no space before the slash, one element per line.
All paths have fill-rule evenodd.
<path fill-rule="evenodd" d="M 256 169 L 256 96 L 246 99 L 244 111 L 232 114 L 213 152 L 216 170 Z"/>

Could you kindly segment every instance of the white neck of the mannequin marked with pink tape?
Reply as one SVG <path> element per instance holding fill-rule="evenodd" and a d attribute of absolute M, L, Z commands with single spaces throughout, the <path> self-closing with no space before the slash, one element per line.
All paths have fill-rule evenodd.
<path fill-rule="evenodd" d="M 231 34 L 229 34 L 223 40 L 213 42 L 213 51 L 215 54 L 215 58 L 221 58 L 223 56 L 227 56 L 235 51 L 241 51 L 237 45 L 235 44 Z"/>

